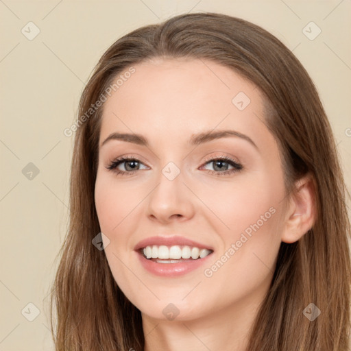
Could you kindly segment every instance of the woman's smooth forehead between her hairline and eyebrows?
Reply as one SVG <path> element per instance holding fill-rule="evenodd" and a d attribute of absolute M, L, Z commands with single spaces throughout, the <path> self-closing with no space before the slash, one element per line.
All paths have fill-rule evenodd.
<path fill-rule="evenodd" d="M 100 139 L 121 131 L 176 142 L 215 128 L 256 134 L 257 143 L 269 137 L 259 89 L 228 67 L 160 58 L 133 67 L 104 104 Z"/>

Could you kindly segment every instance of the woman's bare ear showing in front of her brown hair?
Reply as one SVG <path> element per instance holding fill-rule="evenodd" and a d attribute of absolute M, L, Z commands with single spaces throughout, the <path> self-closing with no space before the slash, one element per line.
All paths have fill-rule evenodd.
<path fill-rule="evenodd" d="M 282 241 L 295 243 L 315 222 L 315 186 L 311 174 L 295 182 L 295 191 L 291 195 L 285 216 Z"/>

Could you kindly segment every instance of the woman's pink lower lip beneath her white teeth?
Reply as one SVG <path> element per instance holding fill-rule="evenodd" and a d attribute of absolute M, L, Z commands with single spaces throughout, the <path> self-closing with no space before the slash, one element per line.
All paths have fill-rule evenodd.
<path fill-rule="evenodd" d="M 162 277 L 177 277 L 183 276 L 184 274 L 187 274 L 204 265 L 204 263 L 208 261 L 208 257 L 211 256 L 213 252 L 204 258 L 197 258 L 197 260 L 193 260 L 191 258 L 178 263 L 157 263 L 145 258 L 145 256 L 139 252 L 136 252 L 136 254 L 138 255 L 141 265 L 143 265 L 143 267 L 150 273 Z"/>

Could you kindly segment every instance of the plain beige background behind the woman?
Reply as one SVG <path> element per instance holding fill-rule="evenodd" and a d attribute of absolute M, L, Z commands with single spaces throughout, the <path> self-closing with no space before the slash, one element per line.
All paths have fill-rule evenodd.
<path fill-rule="evenodd" d="M 63 130 L 75 118 L 84 82 L 123 34 L 197 11 L 247 19 L 293 49 L 319 89 L 350 189 L 350 0 L 0 0 L 0 350 L 53 350 L 47 294 L 68 219 L 73 143 Z M 29 21 L 40 29 L 32 40 Z M 311 21 L 322 30 L 314 40 L 302 32 Z M 23 174 L 29 162 L 39 170 L 32 180 Z M 32 322 L 29 303 L 40 310 Z"/>

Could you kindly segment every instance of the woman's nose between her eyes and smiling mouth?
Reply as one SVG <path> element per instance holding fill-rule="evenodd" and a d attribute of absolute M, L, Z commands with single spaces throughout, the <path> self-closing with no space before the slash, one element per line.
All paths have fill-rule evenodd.
<path fill-rule="evenodd" d="M 173 180 L 160 173 L 158 185 L 147 197 L 147 215 L 163 224 L 191 219 L 195 213 L 193 197 L 193 193 L 183 183 L 182 173 Z"/>

